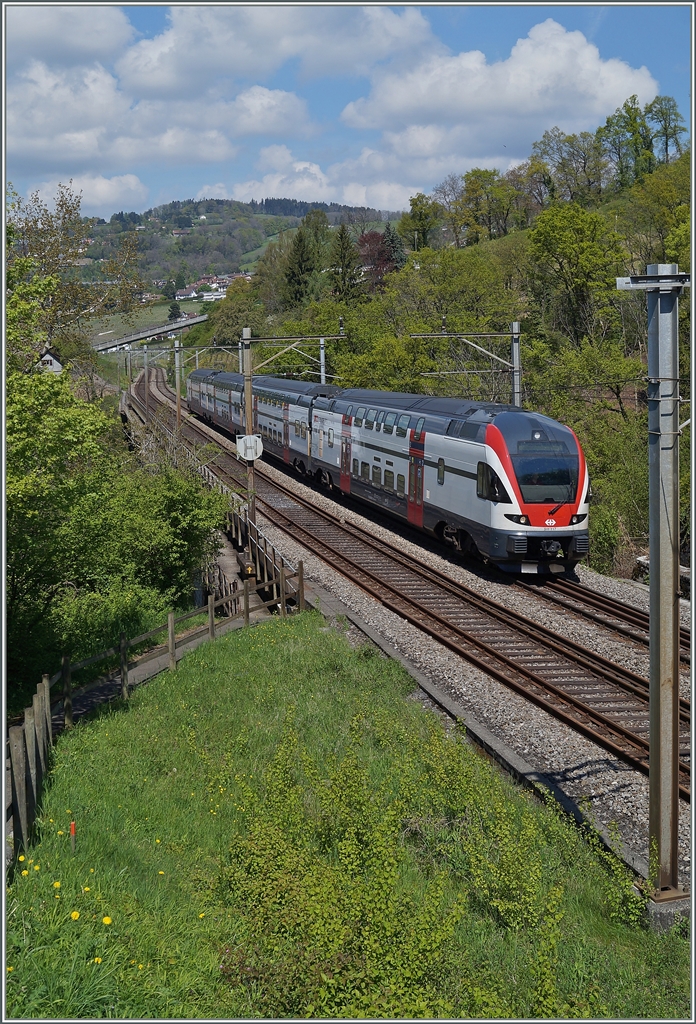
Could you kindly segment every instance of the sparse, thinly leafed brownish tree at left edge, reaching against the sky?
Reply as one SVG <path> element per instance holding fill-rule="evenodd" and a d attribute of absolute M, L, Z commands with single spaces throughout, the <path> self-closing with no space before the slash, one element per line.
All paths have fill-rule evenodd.
<path fill-rule="evenodd" d="M 126 317 L 135 309 L 144 283 L 137 268 L 137 236 L 126 231 L 114 258 L 99 264 L 96 280 L 83 282 L 77 266 L 88 247 L 92 220 L 80 213 L 81 198 L 68 185 L 59 184 L 53 209 L 49 209 L 39 193 L 24 200 L 10 186 L 7 221 L 7 268 L 12 290 L 18 296 L 23 289 L 36 287 L 32 311 L 34 329 L 42 342 L 55 348 L 63 361 L 75 356 L 94 357 L 88 345 L 89 324 L 106 312 L 119 311 Z M 53 284 L 46 285 L 48 280 Z M 40 284 L 43 282 L 43 284 Z M 18 291 L 17 291 L 18 290 Z M 8 351 L 21 369 L 33 366 L 31 339 L 21 341 L 25 355 Z M 24 359 L 24 361 L 23 361 Z"/>

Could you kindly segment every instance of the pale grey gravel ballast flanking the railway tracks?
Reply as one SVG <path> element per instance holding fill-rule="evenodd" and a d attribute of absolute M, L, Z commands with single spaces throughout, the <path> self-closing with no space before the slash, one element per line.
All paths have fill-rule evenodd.
<path fill-rule="evenodd" d="M 264 465 L 264 470 L 271 477 L 288 484 L 289 477 L 285 473 L 267 465 Z M 520 610 L 555 632 L 590 646 L 604 657 L 647 677 L 648 657 L 645 648 L 630 640 L 620 638 L 598 624 L 591 625 L 568 609 L 550 605 L 542 600 L 533 600 L 529 595 L 515 591 L 510 584 L 483 579 L 432 552 L 424 553 L 418 545 L 337 505 L 328 497 L 305 487 L 300 481 L 293 481 L 291 485 L 300 494 L 310 495 L 311 500 L 319 507 L 340 514 L 346 521 L 389 541 L 406 554 L 427 560 L 433 567 L 472 590 Z M 624 845 L 647 860 L 648 780 L 645 776 L 384 608 L 306 548 L 289 540 L 279 529 L 262 520 L 260 515 L 259 525 L 269 541 L 292 562 L 297 563 L 300 558 L 304 560 L 305 577 L 308 580 L 315 581 L 340 598 L 533 768 L 549 775 L 576 803 L 582 806 L 589 803 L 592 814 L 600 824 L 606 827 L 615 822 Z M 582 566 L 578 568 L 578 577 L 585 586 L 594 590 L 608 593 L 639 607 L 647 605 L 647 592 L 620 580 L 602 577 Z M 687 623 L 688 611 L 688 608 L 683 611 L 687 614 Z M 688 685 L 689 678 L 685 673 L 685 693 L 688 693 Z M 691 871 L 690 826 L 690 807 L 682 801 L 680 881 L 688 887 Z"/>

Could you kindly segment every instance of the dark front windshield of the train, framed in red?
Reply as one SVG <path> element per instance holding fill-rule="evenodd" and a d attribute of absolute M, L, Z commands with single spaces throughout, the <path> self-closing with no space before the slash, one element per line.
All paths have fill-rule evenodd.
<path fill-rule="evenodd" d="M 572 502 L 579 458 L 572 431 L 547 416 L 502 413 L 495 426 L 506 439 L 525 503 Z"/>

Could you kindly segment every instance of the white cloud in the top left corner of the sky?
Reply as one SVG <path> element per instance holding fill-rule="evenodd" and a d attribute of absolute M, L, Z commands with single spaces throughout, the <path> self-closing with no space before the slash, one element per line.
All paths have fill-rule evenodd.
<path fill-rule="evenodd" d="M 5 7 L 7 66 L 44 60 L 52 67 L 76 60 L 108 60 L 134 39 L 135 30 L 119 7 L 11 4 Z"/>

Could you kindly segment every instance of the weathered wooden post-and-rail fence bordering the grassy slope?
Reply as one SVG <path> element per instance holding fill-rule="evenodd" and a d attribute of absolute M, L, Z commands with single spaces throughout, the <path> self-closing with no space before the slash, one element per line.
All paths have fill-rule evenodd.
<path fill-rule="evenodd" d="M 244 616 L 244 626 L 249 626 L 252 612 L 259 608 L 277 609 L 285 617 L 289 608 L 304 611 L 304 567 L 299 562 L 295 569 L 280 553 L 269 544 L 254 523 L 246 517 L 246 510 L 230 512 L 227 520 L 227 532 L 235 547 L 240 549 L 237 560 L 245 574 L 244 581 L 228 580 L 218 565 L 209 568 L 204 573 L 203 583 L 210 592 L 205 604 L 175 615 L 169 612 L 167 622 L 140 636 L 128 638 L 121 634 L 118 646 L 101 650 L 91 657 L 81 662 L 71 663 L 70 655 L 63 654 L 58 672 L 52 677 L 44 675 L 34 694 L 32 707 L 25 711 L 23 725 L 14 725 L 9 729 L 8 755 L 10 768 L 11 804 L 6 811 L 6 820 L 11 816 L 13 856 L 31 842 L 36 820 L 43 780 L 50 766 L 50 751 L 53 742 L 51 726 L 51 689 L 61 684 L 62 690 L 62 725 L 70 729 L 73 726 L 73 674 L 81 669 L 87 669 L 108 658 L 119 657 L 121 676 L 121 696 L 127 700 L 130 692 L 129 672 L 140 668 L 148 662 L 157 662 L 168 655 L 167 665 L 171 671 L 176 670 L 177 655 L 182 647 L 190 648 L 207 639 L 214 640 L 216 633 L 236 618 Z M 222 617 L 216 620 L 216 612 Z M 205 625 L 188 630 L 177 636 L 176 627 L 190 618 L 207 613 Z M 132 647 L 155 640 L 160 634 L 167 634 L 166 643 L 161 643 L 145 651 L 132 660 L 128 652 Z M 160 666 L 153 666 L 151 675 L 163 671 Z M 145 676 L 145 678 L 149 678 Z M 103 679 L 97 680 L 98 685 Z"/>

